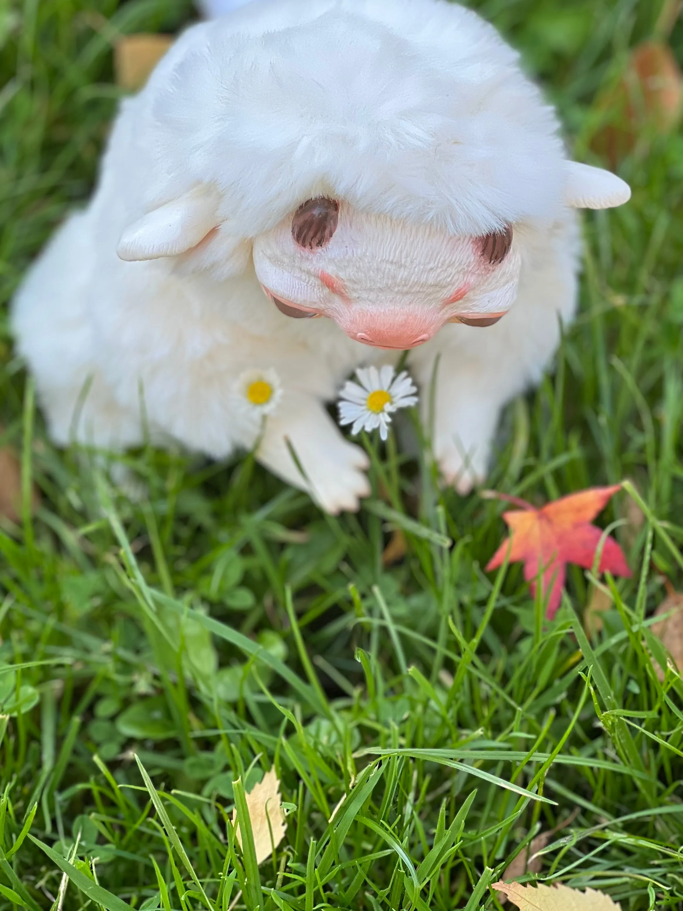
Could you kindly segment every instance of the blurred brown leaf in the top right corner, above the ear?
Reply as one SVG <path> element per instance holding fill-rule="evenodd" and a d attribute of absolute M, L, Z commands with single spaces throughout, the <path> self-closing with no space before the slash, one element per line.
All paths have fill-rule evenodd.
<path fill-rule="evenodd" d="M 607 122 L 592 147 L 612 167 L 643 135 L 675 129 L 683 113 L 683 74 L 668 44 L 652 40 L 634 47 L 617 85 L 598 98 L 596 107 Z"/>

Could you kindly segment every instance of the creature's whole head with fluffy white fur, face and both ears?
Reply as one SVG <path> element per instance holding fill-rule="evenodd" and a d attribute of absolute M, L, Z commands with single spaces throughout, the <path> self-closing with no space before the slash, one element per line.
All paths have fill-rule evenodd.
<path fill-rule="evenodd" d="M 140 96 L 163 157 L 123 259 L 226 277 L 252 254 L 286 316 L 404 349 L 501 319 L 530 226 L 628 199 L 460 7 L 278 0 L 198 28 Z"/>

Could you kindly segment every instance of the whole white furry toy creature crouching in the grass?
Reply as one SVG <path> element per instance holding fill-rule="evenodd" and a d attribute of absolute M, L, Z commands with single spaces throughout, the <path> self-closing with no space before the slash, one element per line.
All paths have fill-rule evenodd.
<path fill-rule="evenodd" d="M 433 451 L 466 492 L 575 312 L 574 210 L 628 197 L 566 159 L 473 12 L 255 0 L 190 27 L 123 102 L 93 199 L 16 296 L 18 349 L 57 444 L 147 427 L 217 459 L 259 440 L 240 377 L 274 371 L 257 456 L 331 512 L 369 493 L 368 463 L 325 403 L 411 349 L 426 416 L 439 355 Z"/>

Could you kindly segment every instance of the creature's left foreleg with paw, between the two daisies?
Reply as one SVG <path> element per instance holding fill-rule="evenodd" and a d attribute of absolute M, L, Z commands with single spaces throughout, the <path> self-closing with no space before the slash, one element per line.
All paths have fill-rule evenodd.
<path fill-rule="evenodd" d="M 358 509 L 360 498 L 370 494 L 364 474 L 367 455 L 343 438 L 312 396 L 285 393 L 277 412 L 268 418 L 256 455 L 275 475 L 306 490 L 332 514 Z"/>

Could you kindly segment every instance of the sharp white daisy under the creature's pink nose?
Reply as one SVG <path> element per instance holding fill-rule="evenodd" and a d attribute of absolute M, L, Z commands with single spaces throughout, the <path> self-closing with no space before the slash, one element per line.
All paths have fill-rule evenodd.
<path fill-rule="evenodd" d="M 385 440 L 389 435 L 392 413 L 417 402 L 413 380 L 406 371 L 394 375 L 391 364 L 377 367 L 359 367 L 356 371 L 361 385 L 349 380 L 339 394 L 339 423 L 352 424 L 352 435 L 361 430 L 380 428 Z"/>

